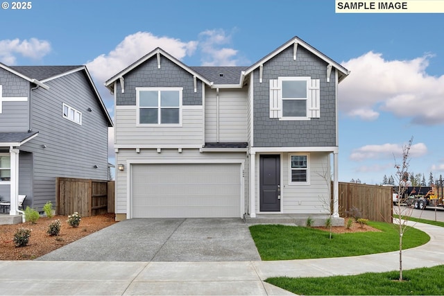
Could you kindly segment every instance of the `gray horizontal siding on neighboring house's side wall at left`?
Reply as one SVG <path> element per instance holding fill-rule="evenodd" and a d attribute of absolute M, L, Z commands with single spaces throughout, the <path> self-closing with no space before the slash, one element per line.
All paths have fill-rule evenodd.
<path fill-rule="evenodd" d="M 33 130 L 39 134 L 21 147 L 34 153 L 33 207 L 37 209 L 49 200 L 55 202 L 56 177 L 106 180 L 108 175 L 108 122 L 85 74 L 75 72 L 46 85 L 49 90 L 33 91 L 31 102 Z M 82 113 L 82 125 L 62 117 L 63 103 Z"/>

